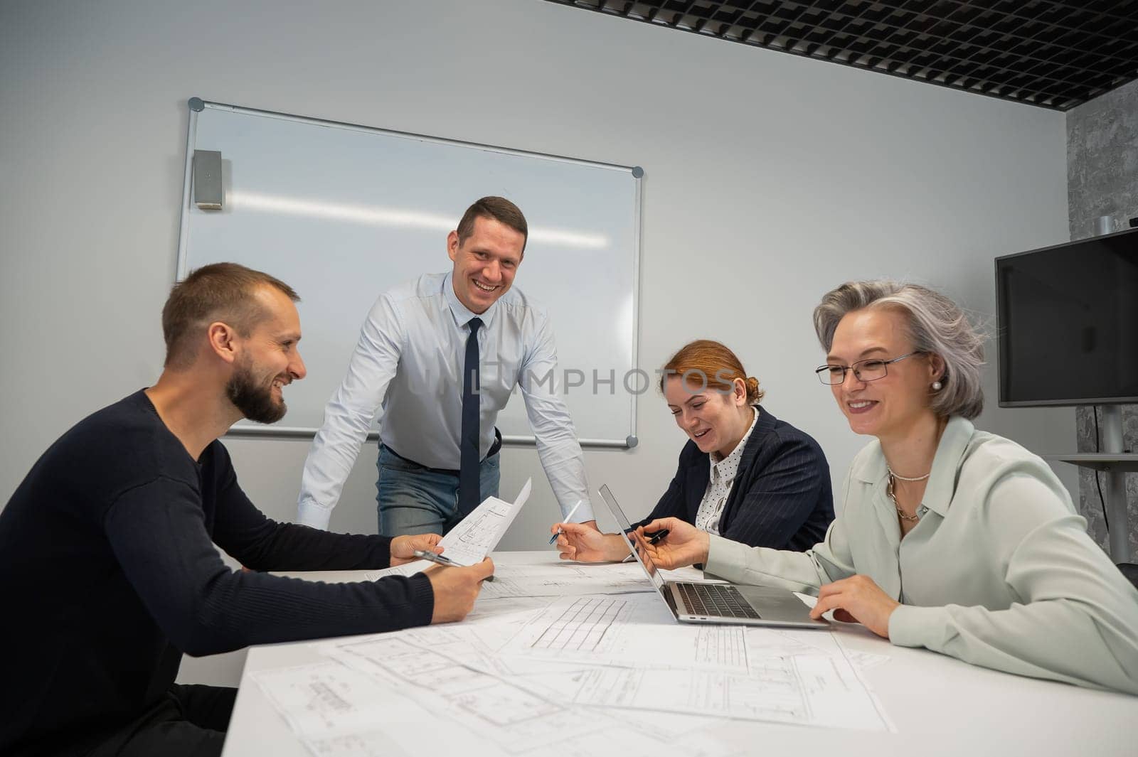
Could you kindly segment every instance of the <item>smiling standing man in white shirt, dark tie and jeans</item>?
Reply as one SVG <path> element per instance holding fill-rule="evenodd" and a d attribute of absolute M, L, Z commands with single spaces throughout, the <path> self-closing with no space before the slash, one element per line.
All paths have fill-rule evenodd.
<path fill-rule="evenodd" d="M 595 527 L 585 458 L 556 394 L 549 318 L 512 290 L 526 217 L 484 197 L 446 239 L 454 266 L 380 294 L 304 464 L 297 522 L 327 529 L 360 444 L 380 414 L 379 533 L 445 533 L 498 493 L 494 427 L 521 388 L 537 454 L 562 515 Z"/>

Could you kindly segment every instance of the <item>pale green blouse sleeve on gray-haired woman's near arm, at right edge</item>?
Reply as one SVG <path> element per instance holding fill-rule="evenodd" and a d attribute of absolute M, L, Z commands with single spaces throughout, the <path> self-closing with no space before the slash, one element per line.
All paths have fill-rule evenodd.
<path fill-rule="evenodd" d="M 1005 479 L 989 502 L 986 551 L 1017 601 L 1006 609 L 902 605 L 889 618 L 890 641 L 1138 694 L 1138 591 L 1090 540 L 1086 522 L 1033 476 Z"/>

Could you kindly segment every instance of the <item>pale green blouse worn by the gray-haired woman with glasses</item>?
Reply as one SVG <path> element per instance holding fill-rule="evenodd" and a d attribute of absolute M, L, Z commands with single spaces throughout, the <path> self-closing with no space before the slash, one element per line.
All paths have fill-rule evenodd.
<path fill-rule="evenodd" d="M 850 466 L 840 513 L 806 552 L 712 534 L 707 571 L 811 594 L 867 575 L 901 602 L 894 644 L 1138 694 L 1138 590 L 1087 535 L 1054 472 L 1015 442 L 949 419 L 921 521 L 902 540 L 873 441 Z"/>

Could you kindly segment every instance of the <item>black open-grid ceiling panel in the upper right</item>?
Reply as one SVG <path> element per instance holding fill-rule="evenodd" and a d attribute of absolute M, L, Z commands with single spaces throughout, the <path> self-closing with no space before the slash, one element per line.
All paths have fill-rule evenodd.
<path fill-rule="evenodd" d="M 1138 78 L 1138 0 L 546 0 L 1069 110 Z"/>

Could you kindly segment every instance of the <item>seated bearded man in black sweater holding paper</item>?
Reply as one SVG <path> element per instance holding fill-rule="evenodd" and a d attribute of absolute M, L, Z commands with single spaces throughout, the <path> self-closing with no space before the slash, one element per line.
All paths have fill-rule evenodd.
<path fill-rule="evenodd" d="M 158 382 L 81 421 L 0 513 L 0 754 L 217 755 L 234 689 L 174 684 L 179 662 L 248 644 L 461 619 L 489 559 L 324 584 L 258 571 L 378 568 L 438 535 L 333 534 L 248 500 L 218 436 L 284 415 L 305 375 L 283 282 L 215 264 L 163 309 Z M 250 571 L 232 571 L 220 547 Z"/>

